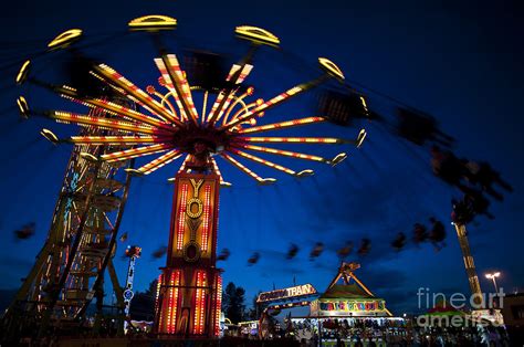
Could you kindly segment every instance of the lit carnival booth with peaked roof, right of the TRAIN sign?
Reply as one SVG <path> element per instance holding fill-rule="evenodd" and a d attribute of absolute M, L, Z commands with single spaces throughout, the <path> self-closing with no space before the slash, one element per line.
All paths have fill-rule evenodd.
<path fill-rule="evenodd" d="M 354 271 L 359 267 L 343 263 L 324 294 L 311 302 L 310 315 L 291 318 L 298 340 L 322 339 L 323 346 L 387 346 L 409 340 L 406 320 L 394 317 L 386 301 L 357 278 Z"/>

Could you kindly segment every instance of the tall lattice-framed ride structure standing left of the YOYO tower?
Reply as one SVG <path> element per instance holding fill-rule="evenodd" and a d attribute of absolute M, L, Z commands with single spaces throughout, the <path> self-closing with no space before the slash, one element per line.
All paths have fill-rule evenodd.
<path fill-rule="evenodd" d="M 88 115 L 97 116 L 103 115 L 95 111 Z M 86 126 L 80 134 L 107 136 L 112 133 Z M 113 165 L 95 162 L 91 158 L 122 148 L 87 144 L 73 148 L 48 239 L 11 308 L 33 312 L 36 316 L 77 318 L 95 292 L 103 291 L 107 266 L 116 291 L 119 290 L 112 250 L 129 183 L 120 169 L 129 162 Z"/>

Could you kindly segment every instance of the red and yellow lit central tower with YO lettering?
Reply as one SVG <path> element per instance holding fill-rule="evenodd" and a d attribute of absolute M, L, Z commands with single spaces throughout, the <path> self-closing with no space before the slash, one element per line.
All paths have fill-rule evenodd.
<path fill-rule="evenodd" d="M 216 267 L 220 178 L 191 156 L 177 174 L 166 267 L 158 281 L 156 332 L 160 336 L 219 335 L 222 280 Z M 200 161 L 200 162 L 198 162 Z"/>

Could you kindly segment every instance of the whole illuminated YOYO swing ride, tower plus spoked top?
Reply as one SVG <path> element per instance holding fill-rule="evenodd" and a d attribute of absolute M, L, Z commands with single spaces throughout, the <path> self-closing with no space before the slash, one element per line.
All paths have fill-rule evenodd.
<path fill-rule="evenodd" d="M 137 31 L 172 30 L 177 25 L 174 18 L 147 15 L 129 22 L 129 29 Z M 282 137 L 259 136 L 260 133 L 277 132 L 305 125 L 325 123 L 322 116 L 310 116 L 291 120 L 258 125 L 266 111 L 311 88 L 335 80 L 344 82 L 344 74 L 332 61 L 319 57 L 319 73 L 316 78 L 301 83 L 270 96 L 268 99 L 248 99 L 253 87 L 243 82 L 253 70 L 252 56 L 262 45 L 279 46 L 280 40 L 271 32 L 255 27 L 237 27 L 235 34 L 250 42 L 245 56 L 232 64 L 220 87 L 190 86 L 188 76 L 179 64 L 176 54 L 160 50 L 154 59 L 158 69 L 156 77 L 163 93 L 153 85 L 145 90 L 135 85 L 124 75 L 106 64 L 93 64 L 90 73 L 102 81 L 112 93 L 133 102 L 137 108 L 125 103 L 116 104 L 107 98 L 78 93 L 69 85 L 51 85 L 39 82 L 60 96 L 76 102 L 90 109 L 106 112 L 106 119 L 97 114 L 78 114 L 69 111 L 32 112 L 25 99 L 19 102 L 21 112 L 36 114 L 57 123 L 74 124 L 94 129 L 111 129 L 115 134 L 82 134 L 69 138 L 59 138 L 51 130 L 48 137 L 55 144 L 69 143 L 74 146 L 104 146 L 104 153 L 90 155 L 92 162 L 119 167 L 132 159 L 154 156 L 142 166 L 126 168 L 135 176 L 149 175 L 177 159 L 185 158 L 175 178 L 175 196 L 171 211 L 169 251 L 166 267 L 159 278 L 155 333 L 166 338 L 210 338 L 219 336 L 219 316 L 221 306 L 221 280 L 216 267 L 217 218 L 219 187 L 229 187 L 218 166 L 218 159 L 251 177 L 260 185 L 274 183 L 274 178 L 263 178 L 242 161 L 251 160 L 258 165 L 284 172 L 295 178 L 314 175 L 312 169 L 293 170 L 270 161 L 263 156 L 280 156 L 303 161 L 323 162 L 335 166 L 347 158 L 338 153 L 333 158 L 317 155 L 277 149 L 286 145 L 343 145 L 359 147 L 366 138 L 361 129 L 356 138 L 334 137 Z M 82 35 L 78 29 L 61 35 L 61 45 L 66 48 Z M 20 70 L 20 76 L 28 75 L 28 64 Z M 24 78 L 22 78 L 24 80 Z M 27 78 L 34 82 L 34 78 Z M 197 111 L 195 94 L 200 93 L 202 107 Z M 360 114 L 367 115 L 365 99 L 356 92 Z M 210 106 L 208 107 L 208 101 Z M 270 147 L 266 147 L 266 144 Z"/>

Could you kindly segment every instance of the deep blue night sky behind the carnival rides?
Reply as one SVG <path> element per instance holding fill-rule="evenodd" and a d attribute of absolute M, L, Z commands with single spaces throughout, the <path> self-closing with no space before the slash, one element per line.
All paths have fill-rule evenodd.
<path fill-rule="evenodd" d="M 394 120 L 396 106 L 373 91 L 395 97 L 432 114 L 441 128 L 458 139 L 460 157 L 486 160 L 514 187 L 505 200 L 493 202 L 494 221 L 483 217 L 469 227 L 469 236 L 483 291 L 492 291 L 484 273 L 502 272 L 499 283 L 506 292 L 524 290 L 524 185 L 522 99 L 524 97 L 523 11 L 517 2 L 484 1 L 10 1 L 2 6 L 0 54 L 0 290 L 20 285 L 45 240 L 62 185 L 71 147 L 53 147 L 39 135 L 48 127 L 64 136 L 74 126 L 51 120 L 19 119 L 13 85 L 20 64 L 11 65 L 39 51 L 56 34 L 71 28 L 84 30 L 88 42 L 101 44 L 86 50 L 137 85 L 145 87 L 158 77 L 155 51 L 147 35 L 126 33 L 128 20 L 145 14 L 167 14 L 178 19 L 176 33 L 166 44 L 172 52 L 205 49 L 222 53 L 234 62 L 247 43 L 233 38 L 240 24 L 265 28 L 281 39 L 281 51 L 261 50 L 247 84 L 255 86 L 255 97 L 268 98 L 315 76 L 317 56 L 326 56 L 345 72 L 349 84 L 367 93 L 369 107 Z M 107 38 L 112 39 L 107 39 Z M 106 40 L 107 39 L 107 40 Z M 65 55 L 53 53 L 34 61 L 34 73 L 61 81 Z M 15 67 L 13 67 L 15 66 Z M 358 87 L 364 85 L 373 91 Z M 66 101 L 35 87 L 24 90 L 30 105 L 39 108 L 73 109 Z M 313 96 L 298 97 L 266 113 L 260 124 L 311 116 Z M 331 168 L 316 164 L 266 159 L 316 175 L 301 180 L 271 172 L 255 164 L 250 168 L 279 182 L 259 187 L 219 161 L 226 179 L 233 182 L 220 198 L 219 246 L 231 250 L 224 283 L 232 281 L 247 290 L 247 299 L 258 291 L 312 283 L 324 291 L 336 274 L 336 250 L 348 240 L 373 242 L 365 257 L 348 260 L 361 264 L 357 275 L 377 296 L 386 298 L 394 313 L 415 312 L 416 292 L 462 292 L 468 281 L 457 236 L 450 224 L 450 200 L 459 192 L 431 174 L 428 148 L 399 139 L 385 124 L 356 123 L 352 127 L 322 125 L 300 127 L 282 135 L 354 137 L 359 127 L 368 130 L 363 148 L 293 148 L 332 157 L 339 151 L 348 160 Z M 279 133 L 273 133 L 279 134 Z M 280 147 L 284 148 L 284 147 Z M 143 162 L 143 161 L 139 161 Z M 179 165 L 179 164 L 178 164 Z M 171 164 L 157 172 L 134 179 L 120 232 L 118 254 L 127 243 L 144 249 L 138 261 L 135 286 L 144 291 L 159 274 L 165 260 L 150 253 L 167 244 L 172 186 L 166 182 L 178 169 Z M 411 233 L 415 222 L 428 223 L 437 217 L 448 228 L 446 248 L 436 252 L 430 244 L 411 242 L 395 252 L 390 242 L 398 232 Z M 36 234 L 15 241 L 13 230 L 34 221 Z M 308 253 L 315 242 L 326 251 L 315 261 Z M 285 260 L 290 243 L 301 251 Z M 261 253 L 254 266 L 247 260 Z M 120 282 L 126 261 L 115 257 Z M 111 299 L 111 295 L 107 296 Z"/>

